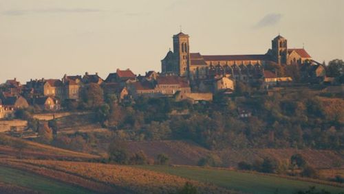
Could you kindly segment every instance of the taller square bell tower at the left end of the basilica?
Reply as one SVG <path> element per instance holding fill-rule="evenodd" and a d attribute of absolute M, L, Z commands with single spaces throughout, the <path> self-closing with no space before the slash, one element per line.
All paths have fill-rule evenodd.
<path fill-rule="evenodd" d="M 190 65 L 189 35 L 180 32 L 173 36 L 173 53 L 178 75 L 187 77 Z"/>

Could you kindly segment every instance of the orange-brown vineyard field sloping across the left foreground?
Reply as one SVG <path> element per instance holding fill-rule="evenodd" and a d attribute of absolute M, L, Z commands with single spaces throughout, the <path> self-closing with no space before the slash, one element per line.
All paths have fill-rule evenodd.
<path fill-rule="evenodd" d="M 56 160 L 0 159 L 1 166 L 5 171 L 26 171 L 29 175 L 39 175 L 55 182 L 72 184 L 94 193 L 176 193 L 186 182 L 195 185 L 199 193 L 237 193 L 214 184 L 129 166 Z M 27 179 L 21 180 L 25 182 Z M 49 184 L 41 182 L 40 185 Z M 30 189 L 35 190 L 34 187 Z"/>

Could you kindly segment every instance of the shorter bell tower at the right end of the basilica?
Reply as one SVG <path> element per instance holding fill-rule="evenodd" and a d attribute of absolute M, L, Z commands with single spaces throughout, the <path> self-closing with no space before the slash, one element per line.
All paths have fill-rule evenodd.
<path fill-rule="evenodd" d="M 272 56 L 278 64 L 287 64 L 288 46 L 287 39 L 281 35 L 272 40 Z"/>

